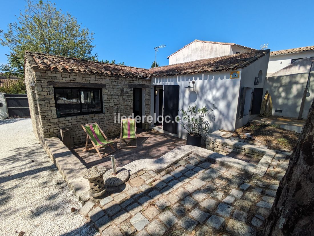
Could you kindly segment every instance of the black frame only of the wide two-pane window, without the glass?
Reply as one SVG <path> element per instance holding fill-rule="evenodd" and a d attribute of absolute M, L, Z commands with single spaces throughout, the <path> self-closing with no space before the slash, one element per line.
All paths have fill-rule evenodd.
<path fill-rule="evenodd" d="M 102 103 L 102 88 L 99 87 L 53 87 L 53 92 L 54 92 L 54 99 L 55 99 L 55 106 L 56 106 L 56 110 L 57 110 L 57 98 L 56 98 L 56 89 L 78 89 L 78 93 L 79 93 L 79 103 L 80 103 L 80 113 L 67 113 L 65 115 L 60 115 L 58 116 L 58 118 L 60 117 L 67 117 L 67 116 L 78 116 L 78 115 L 91 115 L 91 114 L 100 114 L 103 113 L 103 103 Z M 81 99 L 81 90 L 88 90 L 88 89 L 92 89 L 92 90 L 99 90 L 100 93 L 100 111 L 87 111 L 87 112 L 83 112 L 82 111 L 82 99 Z"/>

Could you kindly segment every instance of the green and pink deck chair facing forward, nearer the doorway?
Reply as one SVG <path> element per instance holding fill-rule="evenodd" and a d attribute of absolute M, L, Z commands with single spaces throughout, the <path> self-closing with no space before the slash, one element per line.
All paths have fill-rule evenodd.
<path fill-rule="evenodd" d="M 122 140 L 127 145 L 122 147 Z M 135 140 L 135 146 L 131 146 L 132 140 Z M 122 119 L 121 120 L 121 132 L 120 132 L 120 149 L 121 148 L 136 148 L 136 124 L 134 119 Z"/>

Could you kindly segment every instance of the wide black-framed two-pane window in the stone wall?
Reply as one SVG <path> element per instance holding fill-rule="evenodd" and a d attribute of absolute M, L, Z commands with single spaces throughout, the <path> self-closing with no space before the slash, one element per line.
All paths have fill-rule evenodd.
<path fill-rule="evenodd" d="M 101 88 L 54 89 L 57 117 L 102 113 Z"/>

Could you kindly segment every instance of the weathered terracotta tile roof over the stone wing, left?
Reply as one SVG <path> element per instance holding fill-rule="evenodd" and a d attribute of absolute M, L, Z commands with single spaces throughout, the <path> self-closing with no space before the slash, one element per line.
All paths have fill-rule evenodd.
<path fill-rule="evenodd" d="M 104 76 L 121 76 L 129 78 L 147 78 L 148 70 L 125 65 L 108 64 L 57 55 L 25 52 L 25 61 L 32 68 L 82 74 L 97 74 Z"/>

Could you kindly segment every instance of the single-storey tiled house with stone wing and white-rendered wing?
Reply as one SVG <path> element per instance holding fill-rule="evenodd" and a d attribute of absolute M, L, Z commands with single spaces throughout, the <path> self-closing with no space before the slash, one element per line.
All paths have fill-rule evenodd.
<path fill-rule="evenodd" d="M 268 59 L 269 50 L 252 50 L 143 69 L 25 52 L 33 128 L 40 140 L 60 137 L 60 129 L 68 128 L 75 146 L 85 141 L 81 124 L 96 121 L 108 137 L 119 136 L 117 113 L 120 117 L 155 113 L 175 121 L 188 105 L 216 104 L 212 131 L 234 130 L 259 114 Z M 187 89 L 192 81 L 193 89 Z M 138 126 L 186 138 L 176 122 L 144 119 Z"/>

